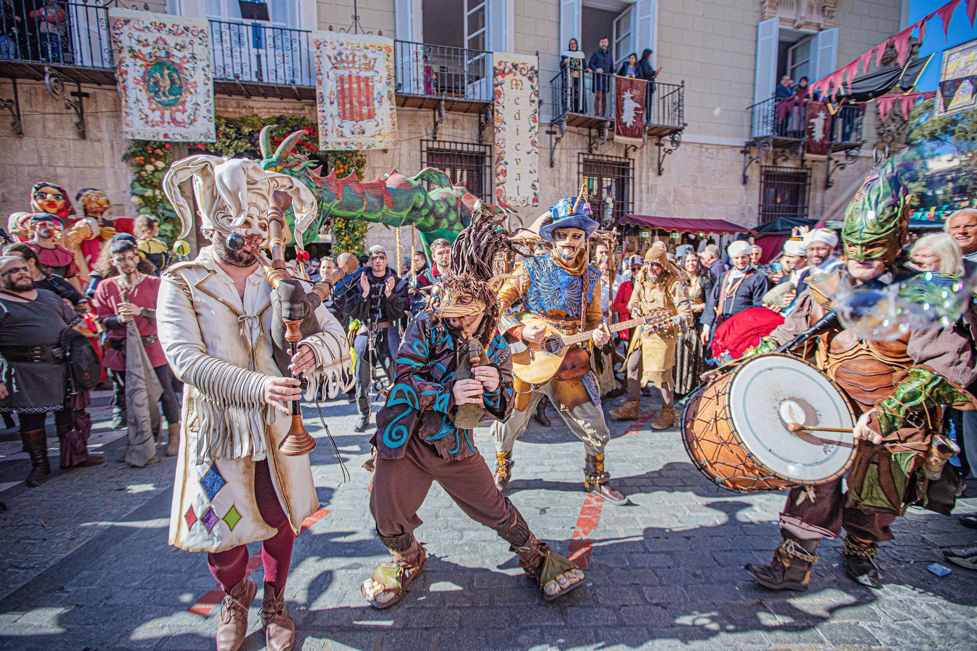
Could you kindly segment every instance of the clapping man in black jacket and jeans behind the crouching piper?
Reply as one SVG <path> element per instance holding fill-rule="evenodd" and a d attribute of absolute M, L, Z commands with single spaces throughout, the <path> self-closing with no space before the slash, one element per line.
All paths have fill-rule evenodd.
<path fill-rule="evenodd" d="M 356 396 L 360 418 L 353 431 L 362 432 L 369 426 L 369 393 L 373 364 L 379 360 L 388 380 L 394 377 L 394 357 L 401 346 L 401 332 L 397 322 L 404 318 L 409 307 L 407 282 L 387 265 L 387 250 L 375 244 L 369 249 L 369 267 L 357 272 L 346 297 L 345 310 L 350 319 L 361 323 L 353 340 L 356 351 Z"/>

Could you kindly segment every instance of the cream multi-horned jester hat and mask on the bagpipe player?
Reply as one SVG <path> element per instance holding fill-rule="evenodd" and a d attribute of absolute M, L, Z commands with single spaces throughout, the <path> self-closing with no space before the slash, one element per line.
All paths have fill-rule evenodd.
<path fill-rule="evenodd" d="M 237 234 L 244 239 L 258 239 L 260 246 L 267 246 L 268 213 L 275 192 L 291 196 L 299 234 L 319 213 L 316 197 L 301 182 L 266 171 L 256 160 L 189 156 L 173 163 L 163 177 L 163 192 L 183 225 L 181 239 L 190 235 L 193 224 L 191 207 L 180 193 L 180 185 L 189 179 L 193 179 L 193 195 L 199 206 L 200 231 L 209 239 L 217 234 L 224 238 Z M 283 238 L 287 243 L 291 234 L 287 228 L 285 231 Z"/>

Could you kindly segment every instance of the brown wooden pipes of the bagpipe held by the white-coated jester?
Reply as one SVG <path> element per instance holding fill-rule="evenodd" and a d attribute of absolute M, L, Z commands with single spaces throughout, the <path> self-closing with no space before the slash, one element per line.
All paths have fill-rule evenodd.
<path fill-rule="evenodd" d="M 272 207 L 268 211 L 268 248 L 271 253 L 271 260 L 263 255 L 258 256 L 265 278 L 277 289 L 278 283 L 283 280 L 291 280 L 288 270 L 285 268 L 285 242 L 282 234 L 285 229 L 284 212 L 292 204 L 292 197 L 282 192 L 275 192 L 272 195 Z M 269 264 L 271 263 L 271 264 Z M 336 269 L 324 280 L 317 282 L 310 293 L 316 294 L 319 302 L 332 291 L 336 282 L 339 282 L 346 274 L 353 273 L 360 266 L 359 260 L 352 253 L 342 253 L 336 260 Z M 294 316 L 294 315 L 292 315 Z M 303 315 L 304 316 L 304 315 Z M 300 327 L 302 318 L 286 319 L 284 315 L 281 322 L 285 326 L 285 340 L 288 341 L 289 353 L 294 357 L 299 340 L 302 338 Z M 301 400 L 292 401 L 292 424 L 288 428 L 288 434 L 282 439 L 278 451 L 285 456 L 308 455 L 316 449 L 316 439 L 312 438 L 302 424 Z"/>

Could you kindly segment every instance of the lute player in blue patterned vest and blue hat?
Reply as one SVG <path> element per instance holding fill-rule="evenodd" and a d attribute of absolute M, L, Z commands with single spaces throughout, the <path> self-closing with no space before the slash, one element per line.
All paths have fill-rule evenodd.
<path fill-rule="evenodd" d="M 512 278 L 499 289 L 502 315 L 499 329 L 509 341 L 522 343 L 524 351 L 518 353 L 520 356 L 535 356 L 529 360 L 531 365 L 546 362 L 538 350 L 526 350 L 529 344 L 538 344 L 542 340 L 545 327 L 562 334 L 573 334 L 602 324 L 601 274 L 587 264 L 585 245 L 597 226 L 590 216 L 589 202 L 580 197 L 560 199 L 550 207 L 550 214 L 539 227 L 539 236 L 555 244 L 553 250 L 524 260 Z M 593 339 L 601 346 L 611 337 L 606 330 L 596 329 Z M 601 410 L 589 350 L 573 345 L 562 366 L 555 369 L 549 379 L 532 385 L 520 379 L 517 373 L 514 386 L 517 397 L 512 417 L 491 426 L 498 490 L 505 491 L 509 483 L 516 439 L 526 431 L 536 403 L 546 396 L 573 434 L 583 442 L 584 488 L 611 503 L 625 503 L 627 498 L 611 487 L 611 475 L 604 470 L 604 449 L 611 439 L 611 432 Z"/>

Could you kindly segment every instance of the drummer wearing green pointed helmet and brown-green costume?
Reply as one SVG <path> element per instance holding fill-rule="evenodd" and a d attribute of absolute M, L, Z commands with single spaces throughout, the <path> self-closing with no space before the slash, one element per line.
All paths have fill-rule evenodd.
<path fill-rule="evenodd" d="M 895 258 L 907 235 L 910 197 L 893 162 L 869 175 L 845 212 L 845 263 L 834 280 L 856 291 L 900 280 Z M 801 293 L 759 352 L 790 341 L 828 313 L 831 303 L 823 286 L 826 282 L 812 283 Z M 858 449 L 846 488 L 839 478 L 790 491 L 780 517 L 784 540 L 773 561 L 746 566 L 757 583 L 806 590 L 811 566 L 818 562 L 818 542 L 837 538 L 844 528 L 848 577 L 882 586 L 878 543 L 892 540 L 889 526 L 910 504 L 926 503 L 930 480 L 921 470 L 932 439 L 940 435 L 943 406 L 974 408 L 973 397 L 960 388 L 977 378 L 970 328 L 910 330 L 897 339 L 872 341 L 835 325 L 813 346 L 794 349 L 804 357 L 813 353 L 818 369 L 861 414 L 855 427 Z"/>

